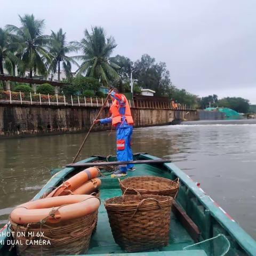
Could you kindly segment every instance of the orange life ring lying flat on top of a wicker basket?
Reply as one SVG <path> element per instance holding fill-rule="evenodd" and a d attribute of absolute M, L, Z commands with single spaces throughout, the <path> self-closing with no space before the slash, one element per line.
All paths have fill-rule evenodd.
<path fill-rule="evenodd" d="M 39 222 L 44 219 L 46 223 L 58 223 L 89 215 L 99 206 L 99 199 L 91 195 L 43 198 L 19 205 L 11 212 L 10 218 L 18 224 Z"/>

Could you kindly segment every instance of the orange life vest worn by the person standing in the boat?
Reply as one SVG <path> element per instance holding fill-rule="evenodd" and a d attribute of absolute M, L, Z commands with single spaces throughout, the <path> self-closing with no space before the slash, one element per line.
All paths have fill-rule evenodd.
<path fill-rule="evenodd" d="M 129 106 L 129 103 L 125 97 L 125 95 L 122 94 L 122 98 L 124 97 L 124 102 L 125 102 L 125 119 L 127 124 L 131 124 L 133 125 L 133 119 L 132 119 L 132 114 L 131 114 L 131 109 Z M 118 123 L 121 123 L 121 117 L 122 115 L 120 115 L 119 113 L 119 104 L 117 100 L 114 100 L 113 104 L 111 105 L 110 109 L 109 109 L 110 114 L 112 115 L 112 125 L 115 126 Z"/>

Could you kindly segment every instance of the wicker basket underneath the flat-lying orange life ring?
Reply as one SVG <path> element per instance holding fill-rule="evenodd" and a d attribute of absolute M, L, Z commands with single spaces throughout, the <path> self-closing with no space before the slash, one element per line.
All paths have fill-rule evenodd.
<path fill-rule="evenodd" d="M 92 231 L 97 221 L 97 214 L 98 211 L 82 218 L 51 225 L 29 223 L 22 226 L 9 218 L 9 227 L 10 231 L 14 232 L 13 239 L 17 254 L 21 256 L 73 255 L 87 252 Z M 36 235 L 42 234 L 41 232 L 43 236 L 37 237 Z M 31 241 L 31 244 L 29 241 Z M 48 241 L 50 241 L 50 244 L 47 244 Z M 29 245 L 26 243 L 29 243 Z"/>

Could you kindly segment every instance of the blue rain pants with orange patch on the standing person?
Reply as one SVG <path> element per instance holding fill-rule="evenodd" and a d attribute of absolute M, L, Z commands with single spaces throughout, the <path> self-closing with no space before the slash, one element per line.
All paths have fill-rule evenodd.
<path fill-rule="evenodd" d="M 116 129 L 116 157 L 117 161 L 132 161 L 132 149 L 131 149 L 131 139 L 132 139 L 131 125 L 126 127 L 117 127 Z M 119 165 L 119 170 L 126 173 L 127 169 L 133 167 L 133 164 L 121 164 Z"/>

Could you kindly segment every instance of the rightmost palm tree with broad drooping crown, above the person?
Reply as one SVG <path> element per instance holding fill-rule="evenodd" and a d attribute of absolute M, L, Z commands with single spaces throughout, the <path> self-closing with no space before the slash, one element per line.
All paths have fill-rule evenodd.
<path fill-rule="evenodd" d="M 106 38 L 106 33 L 102 27 L 93 27 L 92 33 L 86 29 L 85 37 L 80 42 L 73 42 L 73 45 L 79 47 L 83 55 L 76 56 L 82 60 L 78 74 L 86 73 L 86 76 L 100 79 L 105 86 L 109 85 L 110 80 L 119 79 L 116 70 L 118 65 L 111 62 L 109 57 L 115 47 L 113 37 Z"/>

